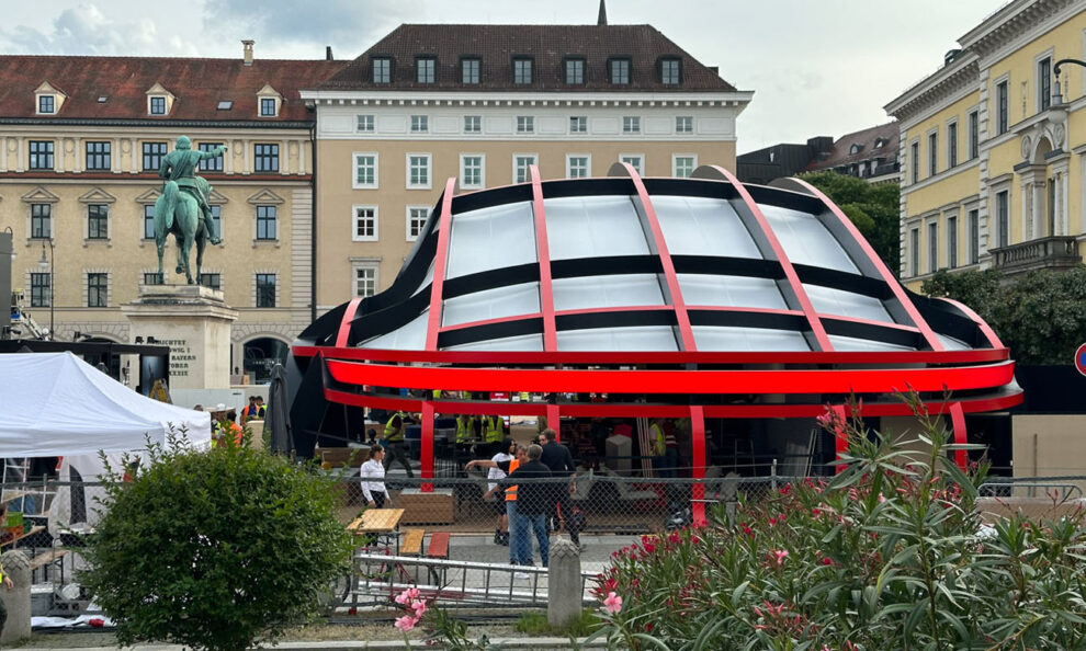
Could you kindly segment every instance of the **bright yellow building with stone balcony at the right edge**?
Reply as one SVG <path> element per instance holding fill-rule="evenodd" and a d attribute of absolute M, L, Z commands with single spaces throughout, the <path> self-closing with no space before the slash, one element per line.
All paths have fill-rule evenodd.
<path fill-rule="evenodd" d="M 1086 4 L 1014 0 L 886 105 L 901 125 L 902 278 L 1082 261 Z M 1056 83 L 1062 101 L 1055 96 Z"/>

